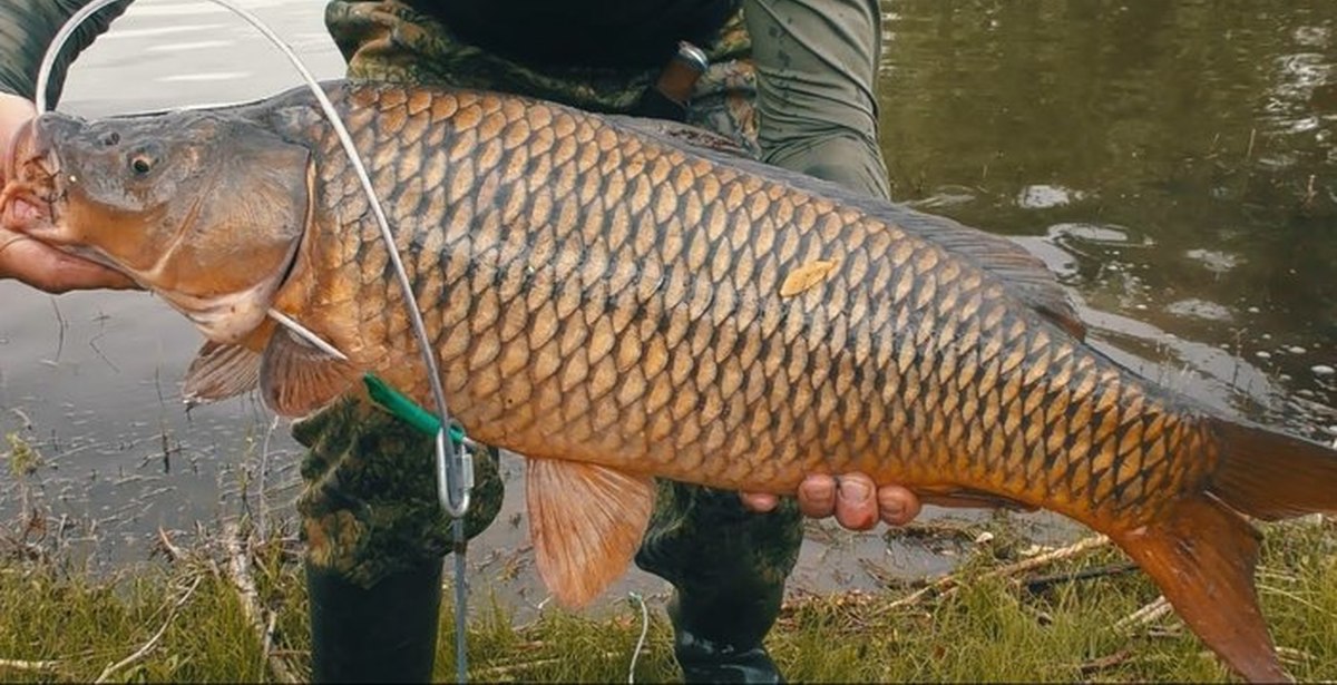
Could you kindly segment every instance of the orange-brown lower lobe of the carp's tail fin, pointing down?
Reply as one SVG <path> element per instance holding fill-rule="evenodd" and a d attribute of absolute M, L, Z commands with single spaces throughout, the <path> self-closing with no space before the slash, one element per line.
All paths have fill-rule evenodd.
<path fill-rule="evenodd" d="M 1185 623 L 1251 682 L 1289 682 L 1258 609 L 1258 531 L 1211 495 L 1183 499 L 1155 523 L 1111 534 Z"/>

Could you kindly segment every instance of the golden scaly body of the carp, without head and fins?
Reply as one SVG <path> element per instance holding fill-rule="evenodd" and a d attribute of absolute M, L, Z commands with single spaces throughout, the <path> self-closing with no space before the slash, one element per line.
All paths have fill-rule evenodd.
<path fill-rule="evenodd" d="M 885 217 L 564 108 L 358 96 L 377 98 L 349 124 L 392 222 L 440 227 L 401 252 L 480 440 L 753 491 L 864 471 L 1092 526 L 1140 523 L 1215 466 L 1187 403 Z M 322 142 L 316 284 L 279 306 L 422 396 L 366 199 Z M 786 297 L 810 264 L 834 266 Z"/>

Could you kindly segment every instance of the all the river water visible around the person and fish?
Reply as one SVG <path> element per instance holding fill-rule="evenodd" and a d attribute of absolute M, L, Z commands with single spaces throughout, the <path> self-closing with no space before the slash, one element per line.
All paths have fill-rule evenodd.
<path fill-rule="evenodd" d="M 340 75 L 322 3 L 241 4 L 318 76 Z M 884 17 L 880 116 L 897 199 L 1042 256 L 1092 344 L 1126 365 L 1333 440 L 1337 3 L 886 0 Z M 222 9 L 139 0 L 80 58 L 60 107 L 119 114 L 297 83 Z M 0 301 L 0 429 L 40 451 L 23 483 L 94 565 L 143 559 L 158 527 L 262 508 L 291 519 L 299 454 L 286 427 L 251 399 L 182 408 L 201 338 L 163 302 L 12 282 Z M 513 480 L 517 460 L 505 471 Z M 0 476 L 0 520 L 23 490 Z M 471 546 L 472 566 L 476 582 L 532 603 L 519 494 Z M 1043 538 L 1074 534 L 1021 520 Z M 793 585 L 872 587 L 949 567 L 943 551 L 814 526 Z M 662 590 L 636 573 L 624 587 Z"/>

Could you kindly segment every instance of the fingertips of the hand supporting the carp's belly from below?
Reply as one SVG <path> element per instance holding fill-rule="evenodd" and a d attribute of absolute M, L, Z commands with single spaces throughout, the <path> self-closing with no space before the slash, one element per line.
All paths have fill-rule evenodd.
<path fill-rule="evenodd" d="M 743 506 L 753 511 L 770 511 L 779 498 L 766 492 L 743 492 Z M 901 486 L 874 487 L 864 474 L 829 476 L 813 474 L 798 486 L 798 510 L 806 516 L 836 520 L 850 530 L 868 530 L 878 519 L 890 526 L 904 526 L 920 512 L 920 499 Z"/>

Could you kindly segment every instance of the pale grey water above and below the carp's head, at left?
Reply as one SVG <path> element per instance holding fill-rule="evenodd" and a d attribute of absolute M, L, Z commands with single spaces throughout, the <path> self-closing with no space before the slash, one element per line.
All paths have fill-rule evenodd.
<path fill-rule="evenodd" d="M 321 32 L 321 4 L 243 0 L 322 78 L 341 62 Z M 310 40 L 320 36 L 321 41 Z M 222 8 L 139 0 L 76 63 L 60 108 L 106 115 L 269 95 L 298 83 L 279 52 Z M 55 514 L 78 524 L 95 562 L 143 558 L 159 526 L 190 530 L 242 504 L 263 478 L 290 510 L 297 451 L 253 399 L 186 413 L 180 375 L 201 336 L 143 293 L 48 297 L 0 282 L 0 429 L 41 452 L 39 483 Z M 17 506 L 0 479 L 0 518 Z M 255 511 L 257 503 L 246 506 Z"/>

